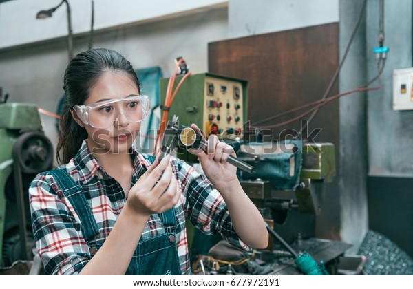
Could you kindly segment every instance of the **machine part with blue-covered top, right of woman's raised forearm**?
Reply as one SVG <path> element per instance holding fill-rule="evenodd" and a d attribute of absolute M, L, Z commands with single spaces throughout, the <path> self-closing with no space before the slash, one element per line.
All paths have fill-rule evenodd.
<path fill-rule="evenodd" d="M 321 211 L 324 185 L 335 175 L 334 145 L 288 140 L 246 147 L 238 158 L 254 164 L 255 174 L 240 172 L 240 183 L 272 231 L 270 245 L 259 253 L 271 264 L 270 274 L 305 274 L 297 269 L 295 252 L 310 254 L 329 274 L 337 274 L 339 257 L 352 245 L 316 238 L 311 222 Z M 286 227 L 289 219 L 296 225 Z"/>

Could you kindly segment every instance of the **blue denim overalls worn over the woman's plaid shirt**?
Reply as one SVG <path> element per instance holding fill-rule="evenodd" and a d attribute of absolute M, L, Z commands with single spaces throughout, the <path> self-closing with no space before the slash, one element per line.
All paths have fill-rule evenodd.
<path fill-rule="evenodd" d="M 83 195 L 83 188 L 76 184 L 64 169 L 48 171 L 61 186 L 63 194 L 70 200 L 82 224 L 82 233 L 93 256 L 104 240 L 96 242 L 99 235 L 98 224 Z M 176 227 L 178 220 L 174 208 L 159 214 L 165 233 L 150 239 L 140 237 L 134 256 L 125 275 L 181 275 L 176 246 Z"/>

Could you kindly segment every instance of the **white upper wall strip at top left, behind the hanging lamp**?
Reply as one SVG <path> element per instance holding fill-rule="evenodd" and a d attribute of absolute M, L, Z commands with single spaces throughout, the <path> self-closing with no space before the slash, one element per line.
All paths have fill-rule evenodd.
<path fill-rule="evenodd" d="M 105 30 L 185 17 L 210 8 L 225 7 L 228 0 L 94 0 L 94 29 Z M 0 4 L 0 49 L 55 39 L 67 35 L 67 6 L 59 7 L 53 17 L 36 19 L 40 10 L 48 10 L 60 0 L 19 0 Z M 74 34 L 87 33 L 92 19 L 92 1 L 69 0 Z"/>

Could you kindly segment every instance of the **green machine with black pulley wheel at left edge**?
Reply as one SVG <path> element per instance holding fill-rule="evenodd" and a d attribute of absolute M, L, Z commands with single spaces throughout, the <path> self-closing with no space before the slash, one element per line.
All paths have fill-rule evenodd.
<path fill-rule="evenodd" d="M 14 274 L 37 274 L 41 264 L 34 253 L 28 187 L 37 173 L 52 167 L 53 148 L 36 105 L 3 99 L 0 147 L 0 273 L 25 264 Z"/>

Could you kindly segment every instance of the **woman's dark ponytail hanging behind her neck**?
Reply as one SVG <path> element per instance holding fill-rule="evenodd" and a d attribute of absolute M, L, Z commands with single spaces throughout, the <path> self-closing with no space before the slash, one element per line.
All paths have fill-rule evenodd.
<path fill-rule="evenodd" d="M 59 140 L 56 148 L 58 164 L 67 164 L 81 148 L 82 142 L 87 138 L 87 131 L 74 121 L 69 105 L 65 105 L 59 120 Z"/>

